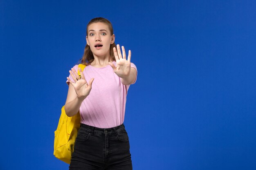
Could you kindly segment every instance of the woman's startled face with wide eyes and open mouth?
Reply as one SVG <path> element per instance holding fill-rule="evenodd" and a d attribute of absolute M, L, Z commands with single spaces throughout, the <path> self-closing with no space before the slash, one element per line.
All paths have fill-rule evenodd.
<path fill-rule="evenodd" d="M 110 44 L 115 42 L 115 35 L 110 35 L 107 24 L 97 22 L 88 26 L 86 41 L 94 56 L 109 55 Z M 99 44 L 99 46 L 97 46 L 97 44 Z"/>

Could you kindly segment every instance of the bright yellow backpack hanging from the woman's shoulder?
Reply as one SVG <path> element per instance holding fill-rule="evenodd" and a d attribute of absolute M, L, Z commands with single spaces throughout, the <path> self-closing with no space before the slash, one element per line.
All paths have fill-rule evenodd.
<path fill-rule="evenodd" d="M 85 68 L 85 65 L 78 65 L 81 70 Z M 78 75 L 80 71 L 78 70 Z M 74 144 L 76 141 L 77 132 L 80 128 L 80 113 L 72 117 L 68 117 L 65 113 L 65 105 L 61 108 L 61 117 L 58 121 L 58 127 L 54 131 L 54 152 L 53 155 L 70 164 L 71 155 L 74 151 Z"/>

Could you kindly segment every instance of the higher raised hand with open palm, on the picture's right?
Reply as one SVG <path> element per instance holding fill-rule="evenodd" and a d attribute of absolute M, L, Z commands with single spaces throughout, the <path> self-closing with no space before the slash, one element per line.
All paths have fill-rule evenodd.
<path fill-rule="evenodd" d="M 113 68 L 114 72 L 121 78 L 128 77 L 131 71 L 131 51 L 129 50 L 128 59 L 126 60 L 126 53 L 124 46 L 122 46 L 123 57 L 121 54 L 120 46 L 117 44 L 117 49 L 114 47 L 114 54 L 117 62 L 117 66 L 115 66 L 112 62 L 108 62 L 110 66 Z"/>

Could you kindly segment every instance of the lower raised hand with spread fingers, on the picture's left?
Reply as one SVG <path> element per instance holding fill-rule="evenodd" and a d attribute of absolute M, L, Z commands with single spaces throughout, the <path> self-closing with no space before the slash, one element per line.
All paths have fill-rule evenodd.
<path fill-rule="evenodd" d="M 69 72 L 75 82 L 72 82 L 72 80 L 69 77 L 67 77 L 67 80 L 74 87 L 77 97 L 79 99 L 84 100 L 90 94 L 90 91 L 92 89 L 92 82 L 93 82 L 94 78 L 91 78 L 90 82 L 88 84 L 83 75 L 83 71 L 81 70 L 81 68 L 78 68 L 78 69 L 81 74 L 81 79 L 80 79 L 79 75 L 76 73 L 76 71 L 74 70 L 74 68 L 71 68 L 71 70 L 74 72 L 74 74 L 72 73 L 71 70 Z"/>

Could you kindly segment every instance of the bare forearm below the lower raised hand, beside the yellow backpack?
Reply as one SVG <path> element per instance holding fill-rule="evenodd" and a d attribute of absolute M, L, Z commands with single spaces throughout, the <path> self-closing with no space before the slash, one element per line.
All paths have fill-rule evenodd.
<path fill-rule="evenodd" d="M 76 97 L 71 102 L 68 102 L 67 104 L 65 104 L 66 115 L 68 117 L 72 117 L 72 116 L 76 115 L 79 111 L 79 108 L 80 108 L 82 102 L 83 102 L 83 99 L 79 99 L 78 97 Z"/>

